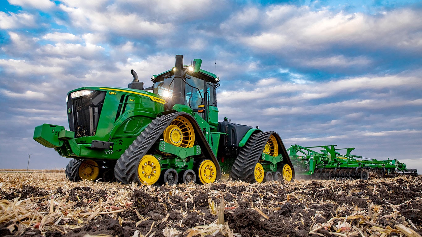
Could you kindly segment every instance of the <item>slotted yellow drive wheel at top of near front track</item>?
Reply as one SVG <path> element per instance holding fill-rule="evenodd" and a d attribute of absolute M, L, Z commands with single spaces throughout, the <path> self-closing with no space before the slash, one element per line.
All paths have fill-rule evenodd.
<path fill-rule="evenodd" d="M 190 148 L 195 142 L 195 132 L 192 124 L 183 116 L 177 116 L 164 130 L 164 141 L 172 145 Z"/>

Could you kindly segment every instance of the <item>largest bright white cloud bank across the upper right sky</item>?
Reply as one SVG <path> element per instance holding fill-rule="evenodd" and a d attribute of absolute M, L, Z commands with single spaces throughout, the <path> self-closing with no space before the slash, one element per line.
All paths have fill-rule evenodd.
<path fill-rule="evenodd" d="M 420 36 L 422 28 L 417 9 L 401 9 L 375 16 L 304 11 L 306 7 L 292 6 L 277 6 L 268 10 L 266 14 L 260 14 L 263 18 L 260 22 L 271 27 L 257 28 L 253 35 L 242 34 L 235 24 L 231 24 L 230 30 L 242 35 L 242 43 L 257 50 L 281 52 L 294 48 L 322 51 L 330 44 L 359 48 L 402 47 L 403 42 L 419 42 L 415 39 Z M 294 12 L 294 17 L 274 17 L 273 11 Z M 406 44 L 406 47 L 421 49 L 419 43 L 412 46 Z"/>

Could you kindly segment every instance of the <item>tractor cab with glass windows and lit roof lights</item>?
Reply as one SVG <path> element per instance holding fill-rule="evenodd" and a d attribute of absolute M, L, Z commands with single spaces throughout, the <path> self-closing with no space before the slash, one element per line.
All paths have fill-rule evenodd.
<path fill-rule="evenodd" d="M 183 65 L 179 73 L 175 66 L 171 70 L 152 76 L 151 81 L 154 83 L 152 90 L 154 94 L 165 99 L 165 110 L 171 110 L 176 104 L 186 105 L 216 128 L 218 125 L 216 88 L 219 86 L 219 78 L 200 69 L 201 62 L 201 59 L 194 59 L 192 65 Z"/>

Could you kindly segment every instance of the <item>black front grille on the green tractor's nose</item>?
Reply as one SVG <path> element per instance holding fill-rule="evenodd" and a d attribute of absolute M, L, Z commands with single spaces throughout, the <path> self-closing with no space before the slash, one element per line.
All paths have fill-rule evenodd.
<path fill-rule="evenodd" d="M 105 97 L 104 91 L 92 91 L 73 99 L 68 95 L 69 129 L 75 132 L 75 138 L 95 135 Z"/>

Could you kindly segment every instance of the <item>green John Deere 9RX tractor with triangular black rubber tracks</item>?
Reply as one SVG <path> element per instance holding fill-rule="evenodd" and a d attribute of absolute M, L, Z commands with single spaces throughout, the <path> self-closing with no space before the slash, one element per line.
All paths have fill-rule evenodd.
<path fill-rule="evenodd" d="M 34 140 L 73 158 L 69 180 L 213 183 L 262 182 L 295 177 L 276 132 L 218 121 L 219 78 L 200 69 L 202 60 L 176 65 L 144 88 L 132 70 L 128 88 L 82 87 L 67 95 L 69 129 L 43 124 Z"/>

